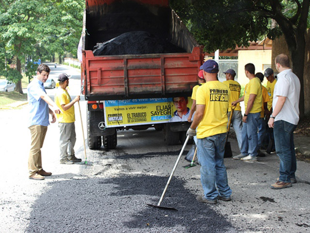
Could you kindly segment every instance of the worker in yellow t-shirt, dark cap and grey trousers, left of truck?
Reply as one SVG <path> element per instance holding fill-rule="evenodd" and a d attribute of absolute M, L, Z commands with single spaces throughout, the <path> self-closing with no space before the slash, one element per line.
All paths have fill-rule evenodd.
<path fill-rule="evenodd" d="M 56 114 L 60 130 L 60 163 L 74 164 L 75 162 L 82 161 L 75 156 L 74 152 L 74 145 L 76 143 L 74 104 L 80 100 L 80 97 L 76 96 L 74 100 L 71 100 L 66 90 L 69 85 L 67 74 L 60 74 L 58 82 L 59 88 L 57 88 L 55 93 L 55 103 L 62 110 L 62 113 Z"/>

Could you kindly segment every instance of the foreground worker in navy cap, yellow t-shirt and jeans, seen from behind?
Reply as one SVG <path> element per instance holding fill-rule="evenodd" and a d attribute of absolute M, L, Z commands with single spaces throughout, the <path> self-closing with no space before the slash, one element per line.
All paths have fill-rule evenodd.
<path fill-rule="evenodd" d="M 203 195 L 196 200 L 215 204 L 218 199 L 231 200 L 232 195 L 224 165 L 230 91 L 224 83 L 217 80 L 216 61 L 207 60 L 200 68 L 206 83 L 197 90 L 196 113 L 186 134 L 195 136 L 197 128 L 197 155 L 201 165 Z"/>

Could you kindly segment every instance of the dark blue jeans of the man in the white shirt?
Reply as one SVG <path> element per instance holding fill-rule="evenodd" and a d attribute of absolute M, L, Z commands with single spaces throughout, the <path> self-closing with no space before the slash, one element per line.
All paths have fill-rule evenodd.
<path fill-rule="evenodd" d="M 274 137 L 276 144 L 276 152 L 280 158 L 280 176 L 279 181 L 291 183 L 291 178 L 295 178 L 296 171 L 296 155 L 294 146 L 294 130 L 293 125 L 284 120 L 277 120 L 274 124 Z"/>

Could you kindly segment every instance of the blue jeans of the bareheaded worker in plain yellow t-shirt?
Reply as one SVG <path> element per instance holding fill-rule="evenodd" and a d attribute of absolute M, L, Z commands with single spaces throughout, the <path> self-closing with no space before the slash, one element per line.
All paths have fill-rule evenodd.
<path fill-rule="evenodd" d="M 241 153 L 243 155 L 257 156 L 257 127 L 261 113 L 249 113 L 247 123 L 242 126 L 242 145 Z"/>

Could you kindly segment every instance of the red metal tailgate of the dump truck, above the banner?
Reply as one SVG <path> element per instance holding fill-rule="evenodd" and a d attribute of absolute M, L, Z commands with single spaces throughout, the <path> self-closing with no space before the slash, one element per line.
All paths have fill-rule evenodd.
<path fill-rule="evenodd" d="M 88 100 L 190 96 L 202 61 L 200 47 L 191 53 L 117 56 L 94 56 L 84 50 L 85 96 Z"/>

